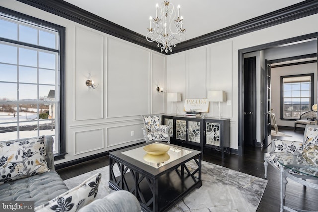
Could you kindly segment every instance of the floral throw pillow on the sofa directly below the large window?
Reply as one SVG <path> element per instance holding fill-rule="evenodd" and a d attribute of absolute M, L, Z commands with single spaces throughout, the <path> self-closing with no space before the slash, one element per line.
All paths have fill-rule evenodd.
<path fill-rule="evenodd" d="M 49 171 L 44 137 L 0 142 L 0 184 Z"/>

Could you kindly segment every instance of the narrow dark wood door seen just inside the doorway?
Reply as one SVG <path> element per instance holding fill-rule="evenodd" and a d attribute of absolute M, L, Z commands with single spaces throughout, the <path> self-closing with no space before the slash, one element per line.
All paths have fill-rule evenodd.
<path fill-rule="evenodd" d="M 244 59 L 244 145 L 256 145 L 256 57 Z"/>

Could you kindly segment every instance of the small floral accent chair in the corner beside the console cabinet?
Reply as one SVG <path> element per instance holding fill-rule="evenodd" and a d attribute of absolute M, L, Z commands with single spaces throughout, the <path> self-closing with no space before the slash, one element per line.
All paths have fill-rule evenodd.
<path fill-rule="evenodd" d="M 144 127 L 144 139 L 149 141 L 168 141 L 170 143 L 170 126 L 161 125 L 161 116 L 158 115 L 142 115 Z"/>

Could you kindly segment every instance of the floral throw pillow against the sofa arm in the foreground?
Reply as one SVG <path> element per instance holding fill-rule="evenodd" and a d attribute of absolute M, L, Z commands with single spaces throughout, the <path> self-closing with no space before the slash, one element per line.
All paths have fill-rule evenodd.
<path fill-rule="evenodd" d="M 34 210 L 36 212 L 76 212 L 95 199 L 100 179 L 101 173 L 95 174 L 77 187 L 36 207 Z"/>

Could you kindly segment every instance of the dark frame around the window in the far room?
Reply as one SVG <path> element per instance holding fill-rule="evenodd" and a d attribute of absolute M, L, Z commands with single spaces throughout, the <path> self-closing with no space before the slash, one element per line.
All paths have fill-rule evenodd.
<path fill-rule="evenodd" d="M 281 76 L 280 77 L 280 119 L 286 120 L 286 121 L 296 121 L 298 119 L 287 119 L 284 118 L 284 84 L 283 80 L 284 78 L 291 78 L 291 77 L 302 77 L 302 76 L 310 76 L 310 110 L 314 103 L 314 73 L 307 73 L 307 74 L 297 74 L 297 75 L 287 75 L 287 76 Z"/>

